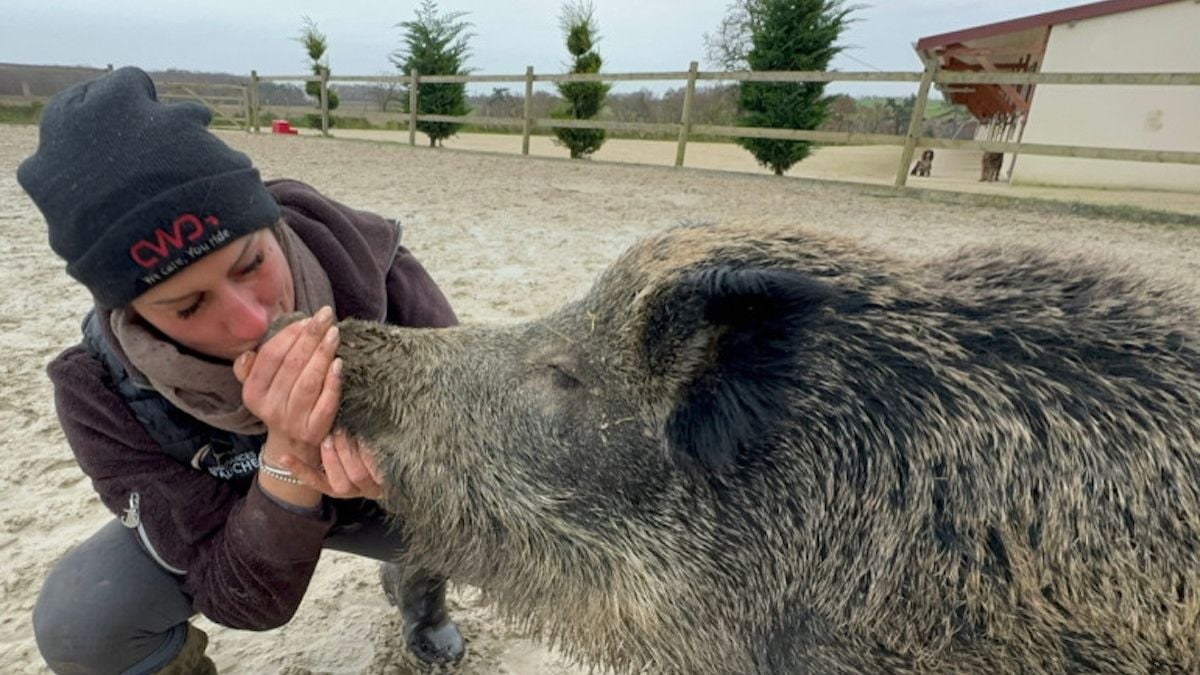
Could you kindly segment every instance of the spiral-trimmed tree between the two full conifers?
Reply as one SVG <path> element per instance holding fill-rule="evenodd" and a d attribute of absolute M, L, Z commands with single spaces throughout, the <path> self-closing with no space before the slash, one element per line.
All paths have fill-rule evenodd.
<path fill-rule="evenodd" d="M 575 0 L 563 5 L 559 24 L 566 37 L 566 50 L 575 58 L 572 73 L 600 72 L 601 59 L 595 50 L 600 38 L 596 31 L 595 7 L 588 0 Z M 564 103 L 551 110 L 552 118 L 587 120 L 596 117 L 604 107 L 605 96 L 611 86 L 602 82 L 563 82 L 558 92 Z M 604 145 L 602 129 L 563 129 L 556 127 L 558 142 L 571 151 L 571 159 L 587 157 Z"/>

